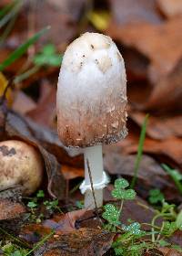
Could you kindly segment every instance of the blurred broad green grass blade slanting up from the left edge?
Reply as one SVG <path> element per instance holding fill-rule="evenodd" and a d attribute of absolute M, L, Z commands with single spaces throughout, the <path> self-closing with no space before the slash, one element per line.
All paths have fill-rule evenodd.
<path fill-rule="evenodd" d="M 45 27 L 41 31 L 35 34 L 35 36 L 29 38 L 23 45 L 21 45 L 19 48 L 16 48 L 15 51 L 10 54 L 10 56 L 3 61 L 3 63 L 0 64 L 0 71 L 4 70 L 6 67 L 10 66 L 13 62 L 15 62 L 16 59 L 19 59 L 29 48 L 31 45 L 35 44 L 35 42 L 42 37 L 45 32 L 50 27 Z"/>

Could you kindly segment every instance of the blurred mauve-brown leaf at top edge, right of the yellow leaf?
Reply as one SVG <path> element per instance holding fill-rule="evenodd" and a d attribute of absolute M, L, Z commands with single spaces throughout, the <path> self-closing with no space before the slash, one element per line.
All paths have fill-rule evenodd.
<path fill-rule="evenodd" d="M 158 24 L 162 17 L 157 12 L 156 0 L 110 0 L 116 23 L 149 22 Z"/>

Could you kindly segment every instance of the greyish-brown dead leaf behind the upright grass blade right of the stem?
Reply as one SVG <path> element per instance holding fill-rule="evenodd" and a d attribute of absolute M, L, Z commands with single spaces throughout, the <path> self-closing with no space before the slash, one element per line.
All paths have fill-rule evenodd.
<path fill-rule="evenodd" d="M 105 169 L 111 175 L 134 176 L 135 162 L 136 155 L 121 155 L 116 151 L 112 151 L 112 148 L 108 148 L 105 151 Z M 147 197 L 145 188 L 147 190 L 149 190 L 149 187 L 157 187 L 159 189 L 164 189 L 165 187 L 174 188 L 167 180 L 166 172 L 157 161 L 148 155 L 142 156 L 137 178 L 140 189 L 144 189 L 145 197 Z"/>

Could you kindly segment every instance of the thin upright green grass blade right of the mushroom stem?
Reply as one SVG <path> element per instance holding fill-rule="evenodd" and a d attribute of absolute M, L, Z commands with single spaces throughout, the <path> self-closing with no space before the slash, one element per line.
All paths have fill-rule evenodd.
<path fill-rule="evenodd" d="M 139 144 L 138 144 L 138 148 L 137 148 L 137 156 L 136 156 L 136 163 L 134 166 L 134 176 L 132 178 L 131 181 L 131 188 L 134 188 L 136 185 L 136 179 L 137 179 L 137 173 L 138 173 L 138 169 L 139 169 L 139 164 L 141 162 L 142 159 L 142 154 L 143 154 L 143 147 L 144 147 L 144 142 L 146 139 L 146 130 L 147 130 L 147 121 L 148 121 L 148 117 L 149 115 L 147 114 L 144 120 L 144 123 L 142 124 L 142 130 L 140 133 L 140 137 L 139 137 Z"/>

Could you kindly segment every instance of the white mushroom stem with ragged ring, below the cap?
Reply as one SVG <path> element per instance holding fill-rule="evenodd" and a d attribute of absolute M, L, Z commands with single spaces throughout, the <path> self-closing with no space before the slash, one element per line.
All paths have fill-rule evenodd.
<path fill-rule="evenodd" d="M 103 187 L 105 187 L 107 183 L 106 174 L 103 170 L 102 145 L 95 145 L 84 148 L 84 160 L 85 181 L 81 185 L 80 189 L 81 192 L 85 194 L 85 208 L 102 207 Z M 95 190 L 96 206 L 91 187 L 87 161 L 89 163 L 90 173 L 92 176 L 92 183 Z"/>

